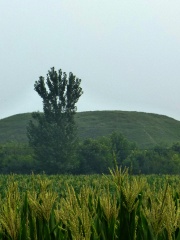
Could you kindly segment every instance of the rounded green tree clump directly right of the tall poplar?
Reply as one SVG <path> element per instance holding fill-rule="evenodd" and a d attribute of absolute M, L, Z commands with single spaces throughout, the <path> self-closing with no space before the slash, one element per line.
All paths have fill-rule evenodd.
<path fill-rule="evenodd" d="M 121 133 L 113 132 L 109 136 L 97 139 L 85 139 L 79 146 L 79 171 L 81 173 L 108 173 L 114 167 L 114 157 L 118 166 L 135 149 Z"/>

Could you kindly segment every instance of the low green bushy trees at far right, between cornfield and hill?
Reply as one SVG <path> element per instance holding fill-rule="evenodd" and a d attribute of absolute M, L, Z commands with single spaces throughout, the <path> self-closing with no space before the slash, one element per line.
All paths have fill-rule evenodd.
<path fill-rule="evenodd" d="M 170 147 L 157 145 L 152 149 L 136 149 L 124 160 L 123 166 L 132 167 L 135 174 L 179 174 L 180 143 Z"/>

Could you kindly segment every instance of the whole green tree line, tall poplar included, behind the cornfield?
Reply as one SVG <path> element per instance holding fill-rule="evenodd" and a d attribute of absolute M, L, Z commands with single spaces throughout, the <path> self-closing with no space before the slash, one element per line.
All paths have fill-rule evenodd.
<path fill-rule="evenodd" d="M 133 174 L 179 174 L 180 143 L 139 149 L 120 132 L 96 139 L 78 139 L 74 116 L 83 94 L 81 79 L 51 68 L 34 84 L 43 113 L 32 113 L 28 144 L 0 145 L 0 173 L 108 173 L 115 164 Z"/>

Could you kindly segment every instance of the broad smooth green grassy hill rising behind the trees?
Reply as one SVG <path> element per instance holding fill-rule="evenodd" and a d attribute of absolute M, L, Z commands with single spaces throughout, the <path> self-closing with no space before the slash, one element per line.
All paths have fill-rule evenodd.
<path fill-rule="evenodd" d="M 31 113 L 17 114 L 0 120 L 0 143 L 27 142 L 26 126 Z M 106 136 L 120 131 L 140 148 L 180 142 L 180 121 L 173 118 L 142 112 L 92 111 L 76 114 L 80 138 Z"/>

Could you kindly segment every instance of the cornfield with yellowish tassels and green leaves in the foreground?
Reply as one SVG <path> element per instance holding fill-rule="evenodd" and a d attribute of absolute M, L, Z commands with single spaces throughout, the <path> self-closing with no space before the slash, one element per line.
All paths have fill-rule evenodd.
<path fill-rule="evenodd" d="M 179 240 L 179 176 L 0 175 L 0 239 Z"/>

